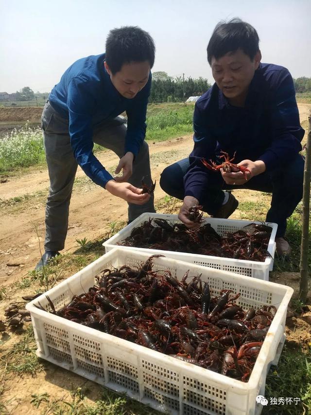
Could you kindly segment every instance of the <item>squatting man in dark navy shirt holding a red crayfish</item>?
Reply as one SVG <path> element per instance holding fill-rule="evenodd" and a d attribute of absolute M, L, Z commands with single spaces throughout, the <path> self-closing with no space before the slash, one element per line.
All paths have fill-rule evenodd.
<path fill-rule="evenodd" d="M 189 208 L 203 205 L 212 217 L 229 217 L 238 200 L 224 190 L 272 192 L 266 220 L 278 225 L 276 250 L 289 255 L 286 219 L 302 198 L 304 159 L 299 154 L 304 130 L 299 123 L 294 83 L 287 69 L 260 63 L 256 30 L 240 19 L 220 22 L 207 46 L 215 84 L 196 102 L 194 147 L 189 159 L 167 167 L 160 185 L 183 199 L 179 218 L 190 229 Z M 221 151 L 247 168 L 206 168 L 202 158 L 220 164 Z"/>

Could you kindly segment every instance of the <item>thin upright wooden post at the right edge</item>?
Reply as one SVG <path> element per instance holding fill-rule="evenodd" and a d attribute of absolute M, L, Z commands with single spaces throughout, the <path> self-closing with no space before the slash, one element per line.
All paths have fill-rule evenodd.
<path fill-rule="evenodd" d="M 300 287 L 299 299 L 306 303 L 308 295 L 308 251 L 309 251 L 309 219 L 310 219 L 310 174 L 311 174 L 311 110 L 309 111 L 309 125 L 306 146 L 306 160 L 303 178 L 302 197 L 302 235 L 300 253 Z"/>

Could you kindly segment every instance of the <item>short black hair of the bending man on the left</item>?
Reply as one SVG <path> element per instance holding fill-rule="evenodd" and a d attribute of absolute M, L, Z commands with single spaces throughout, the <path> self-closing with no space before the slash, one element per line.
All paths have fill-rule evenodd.
<path fill-rule="evenodd" d="M 110 71 L 119 72 L 124 63 L 148 61 L 155 63 L 155 43 L 148 32 L 138 26 L 112 29 L 106 40 L 105 60 Z"/>

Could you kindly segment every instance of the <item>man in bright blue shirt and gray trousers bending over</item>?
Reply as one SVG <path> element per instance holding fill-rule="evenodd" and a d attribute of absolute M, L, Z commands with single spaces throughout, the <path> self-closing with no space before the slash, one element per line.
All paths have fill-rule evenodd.
<path fill-rule="evenodd" d="M 152 37 L 139 27 L 110 31 L 105 54 L 73 63 L 55 85 L 42 113 L 41 126 L 50 176 L 46 207 L 45 253 L 36 270 L 64 248 L 69 203 L 78 164 L 86 175 L 112 195 L 129 203 L 132 221 L 155 212 L 153 195 L 141 194 L 141 180 L 151 185 L 146 132 Z M 126 111 L 124 117 L 119 115 Z M 93 154 L 93 144 L 120 158 L 113 178 Z"/>

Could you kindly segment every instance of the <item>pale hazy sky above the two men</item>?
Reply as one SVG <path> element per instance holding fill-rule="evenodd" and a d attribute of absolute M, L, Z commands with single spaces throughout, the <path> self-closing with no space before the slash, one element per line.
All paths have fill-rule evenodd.
<path fill-rule="evenodd" d="M 311 77 L 311 0 L 0 0 L 0 92 L 49 92 L 77 59 L 102 54 L 109 31 L 139 26 L 155 40 L 153 72 L 213 78 L 206 48 L 220 20 L 259 34 L 262 62 Z M 309 49 L 309 52 L 308 52 Z"/>

